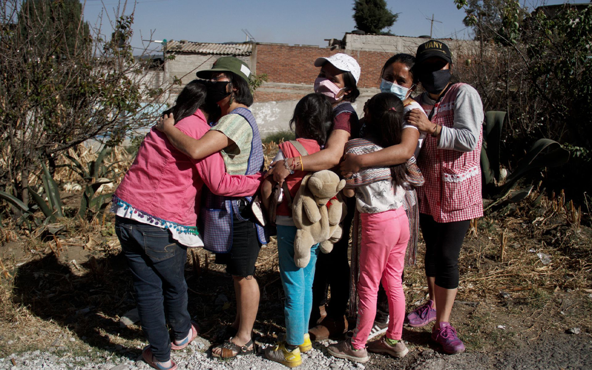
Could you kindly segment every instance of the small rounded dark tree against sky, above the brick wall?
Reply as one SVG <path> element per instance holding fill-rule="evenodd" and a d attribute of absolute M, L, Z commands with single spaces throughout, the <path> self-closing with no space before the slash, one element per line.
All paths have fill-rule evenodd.
<path fill-rule="evenodd" d="M 398 16 L 387 8 L 385 0 L 356 0 L 353 3 L 353 20 L 358 30 L 365 33 L 382 34 L 382 30 L 391 27 Z"/>

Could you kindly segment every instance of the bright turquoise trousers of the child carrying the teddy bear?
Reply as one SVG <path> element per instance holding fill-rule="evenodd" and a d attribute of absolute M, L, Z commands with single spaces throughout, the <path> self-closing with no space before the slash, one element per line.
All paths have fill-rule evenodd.
<path fill-rule="evenodd" d="M 278 225 L 279 276 L 286 294 L 284 315 L 286 317 L 286 342 L 297 346 L 304 342 L 308 332 L 308 320 L 313 308 L 313 279 L 317 263 L 318 244 L 310 249 L 310 262 L 305 268 L 294 263 L 295 226 Z"/>

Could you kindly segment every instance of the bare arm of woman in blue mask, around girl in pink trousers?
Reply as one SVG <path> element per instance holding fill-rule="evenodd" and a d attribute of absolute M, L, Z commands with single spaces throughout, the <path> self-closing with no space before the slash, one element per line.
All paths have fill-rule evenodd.
<path fill-rule="evenodd" d="M 401 134 L 400 144 L 363 155 L 348 153 L 343 156 L 343 162 L 339 169 L 343 176 L 349 177 L 352 173 L 359 172 L 365 167 L 399 165 L 413 156 L 417 140 L 419 140 L 419 131 L 413 127 L 405 128 Z"/>

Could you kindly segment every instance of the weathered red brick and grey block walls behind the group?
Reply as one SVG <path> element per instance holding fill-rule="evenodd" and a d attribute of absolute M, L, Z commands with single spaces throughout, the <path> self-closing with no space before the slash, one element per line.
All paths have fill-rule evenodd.
<path fill-rule="evenodd" d="M 396 53 L 415 54 L 417 46 L 425 41 L 426 38 L 419 37 L 346 34 L 345 49 L 273 43 L 253 45 L 252 55 L 240 59 L 251 67 L 253 73 L 268 75 L 269 81 L 255 92 L 255 104 L 251 107 L 262 137 L 288 130 L 296 103 L 304 95 L 313 92 L 312 84 L 318 75 L 318 67 L 314 66 L 317 57 L 346 53 L 358 60 L 362 70 L 358 87 L 362 95 L 354 108 L 362 115 L 364 102 L 378 92 L 384 62 Z M 475 41 L 444 41 L 451 47 L 453 56 L 468 56 L 478 52 L 478 43 Z M 175 60 L 167 62 L 167 75 L 177 76 L 187 83 L 195 78 L 197 70 L 208 69 L 216 58 L 205 54 L 178 53 Z"/>

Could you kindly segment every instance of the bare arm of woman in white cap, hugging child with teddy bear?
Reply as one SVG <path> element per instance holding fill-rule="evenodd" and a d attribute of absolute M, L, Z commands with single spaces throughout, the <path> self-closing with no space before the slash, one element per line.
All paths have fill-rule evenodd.
<path fill-rule="evenodd" d="M 304 168 L 305 171 L 320 171 L 337 166 L 343 156 L 343 149 L 345 148 L 345 144 L 348 142 L 349 137 L 350 134 L 348 131 L 333 130 L 329 136 L 329 140 L 327 140 L 325 149 L 303 157 L 302 168 Z M 272 168 L 267 172 L 267 175 L 265 175 L 273 175 L 274 181 L 280 186 L 284 183 L 284 179 L 290 174 L 289 170 L 285 168 L 284 162 L 285 160 L 278 160 L 277 162 L 272 163 Z M 289 162 L 289 164 L 291 164 L 291 162 Z"/>

